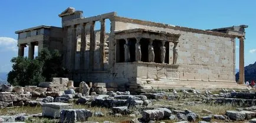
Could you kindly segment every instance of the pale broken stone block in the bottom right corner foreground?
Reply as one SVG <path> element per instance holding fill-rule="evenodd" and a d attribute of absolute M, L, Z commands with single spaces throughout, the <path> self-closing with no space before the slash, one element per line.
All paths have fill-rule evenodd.
<path fill-rule="evenodd" d="M 234 121 L 244 121 L 245 119 L 245 113 L 239 111 L 226 111 L 226 115 Z"/>

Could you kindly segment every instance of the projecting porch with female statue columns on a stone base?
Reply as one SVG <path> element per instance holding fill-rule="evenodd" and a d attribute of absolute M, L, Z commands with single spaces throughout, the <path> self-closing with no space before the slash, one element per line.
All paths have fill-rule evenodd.
<path fill-rule="evenodd" d="M 140 82 L 178 79 L 179 36 L 147 29 L 116 31 L 117 77 L 124 73 L 124 78 L 130 79 L 130 88 L 134 89 Z"/>

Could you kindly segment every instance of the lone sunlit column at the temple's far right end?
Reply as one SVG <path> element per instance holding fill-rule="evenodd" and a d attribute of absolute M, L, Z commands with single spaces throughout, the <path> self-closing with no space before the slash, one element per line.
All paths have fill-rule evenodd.
<path fill-rule="evenodd" d="M 244 84 L 244 37 L 239 38 L 239 82 Z"/>

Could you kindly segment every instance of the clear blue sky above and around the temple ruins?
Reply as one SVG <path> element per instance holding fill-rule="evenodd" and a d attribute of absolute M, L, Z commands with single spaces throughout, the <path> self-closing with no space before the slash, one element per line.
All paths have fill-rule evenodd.
<path fill-rule="evenodd" d="M 38 25 L 61 26 L 58 17 L 68 6 L 94 16 L 116 11 L 128 18 L 161 22 L 189 28 L 212 29 L 232 25 L 249 25 L 245 39 L 245 66 L 256 61 L 256 1 L 15 1 L 0 2 L 0 72 L 11 70 L 12 57 L 17 56 L 20 29 Z M 238 39 L 236 41 L 238 68 Z M 27 53 L 25 53 L 27 54 Z"/>

